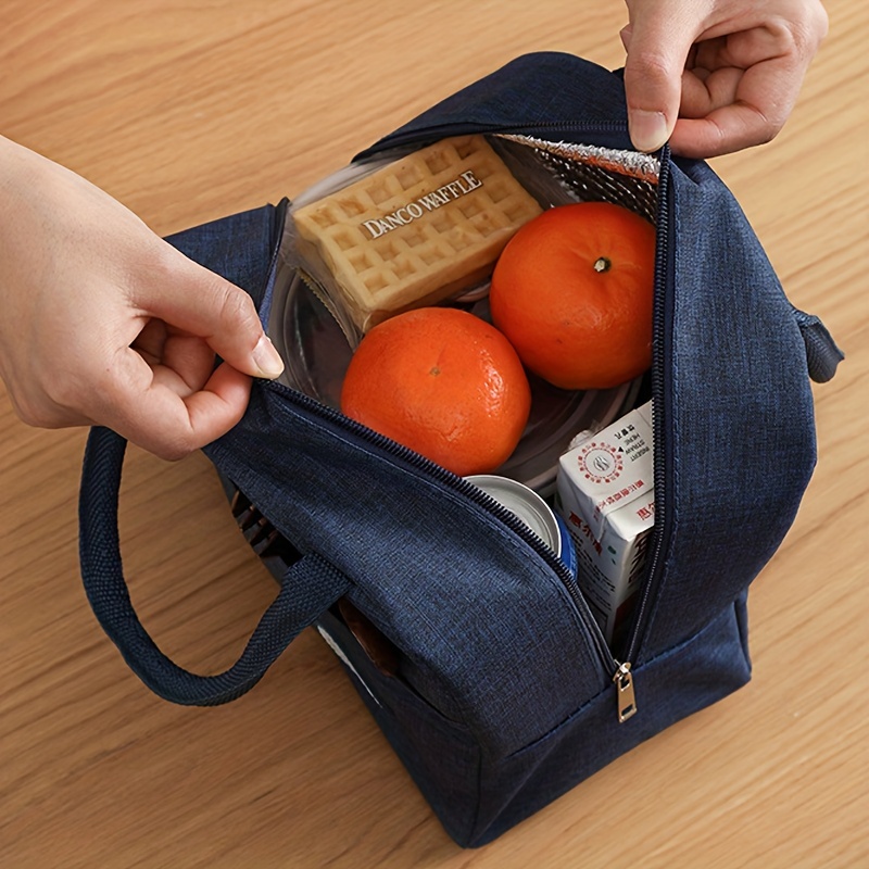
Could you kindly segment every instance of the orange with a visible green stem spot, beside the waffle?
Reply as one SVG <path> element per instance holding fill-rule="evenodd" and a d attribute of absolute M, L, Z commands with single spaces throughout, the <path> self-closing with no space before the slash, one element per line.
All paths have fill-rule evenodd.
<path fill-rule="evenodd" d="M 652 364 L 655 228 L 620 205 L 543 212 L 495 265 L 492 322 L 529 370 L 563 389 L 605 389 Z"/>

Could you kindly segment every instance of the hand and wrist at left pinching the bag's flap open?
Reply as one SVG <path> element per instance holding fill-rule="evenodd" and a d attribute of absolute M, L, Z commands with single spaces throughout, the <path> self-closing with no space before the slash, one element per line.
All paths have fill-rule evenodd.
<path fill-rule="evenodd" d="M 231 428 L 251 377 L 282 369 L 245 292 L 2 137 L 0 311 L 0 376 L 24 421 L 108 426 L 164 458 Z"/>

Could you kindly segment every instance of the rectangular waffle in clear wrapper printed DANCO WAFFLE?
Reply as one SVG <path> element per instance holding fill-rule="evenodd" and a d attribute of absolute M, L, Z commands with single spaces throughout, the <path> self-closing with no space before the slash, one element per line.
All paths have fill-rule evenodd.
<path fill-rule="evenodd" d="M 482 136 L 444 139 L 299 209 L 300 254 L 319 261 L 365 331 L 484 280 L 541 212 Z M 328 289 L 328 285 L 327 285 Z"/>

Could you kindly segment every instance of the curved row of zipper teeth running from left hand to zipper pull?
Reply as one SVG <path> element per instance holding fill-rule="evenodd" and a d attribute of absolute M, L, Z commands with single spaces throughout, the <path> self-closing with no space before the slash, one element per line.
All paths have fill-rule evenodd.
<path fill-rule="evenodd" d="M 419 453 L 410 450 L 406 446 L 391 440 L 390 438 L 380 434 L 366 426 L 356 423 L 350 417 L 344 416 L 332 407 L 320 404 L 318 401 L 305 395 L 303 392 L 291 389 L 284 383 L 276 383 L 270 380 L 265 380 L 263 383 L 266 388 L 279 392 L 285 399 L 291 403 L 302 407 L 306 412 L 314 414 L 322 419 L 339 426 L 344 431 L 352 432 L 357 438 L 364 440 L 366 443 L 377 448 L 378 450 L 389 454 L 390 456 L 407 463 L 412 467 L 423 471 L 424 474 L 434 478 L 438 482 L 449 486 L 456 492 L 469 498 L 474 503 L 486 509 L 492 516 L 498 518 L 509 528 L 511 531 L 516 533 L 522 541 L 525 541 L 550 567 L 558 577 L 565 590 L 567 591 L 570 600 L 574 602 L 577 613 L 581 620 L 589 629 L 592 638 L 594 639 L 595 648 L 601 659 L 601 664 L 608 675 L 613 675 L 618 669 L 618 663 L 614 659 L 606 641 L 601 633 L 597 622 L 591 615 L 579 590 L 576 579 L 564 562 L 555 554 L 555 552 L 546 545 L 546 543 L 538 537 L 515 513 L 509 511 L 499 501 L 495 501 L 491 495 L 483 492 L 473 482 L 463 477 L 458 477 L 451 470 L 431 462 Z"/>

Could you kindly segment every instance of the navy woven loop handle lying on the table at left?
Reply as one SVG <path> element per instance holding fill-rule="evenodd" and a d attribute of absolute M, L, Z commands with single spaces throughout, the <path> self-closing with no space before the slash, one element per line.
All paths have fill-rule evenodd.
<path fill-rule="evenodd" d="M 127 442 L 91 429 L 79 496 L 79 557 L 85 591 L 97 619 L 133 671 L 164 700 L 216 706 L 240 697 L 281 652 L 350 588 L 350 580 L 319 555 L 304 555 L 285 574 L 280 591 L 239 659 L 217 676 L 198 676 L 167 658 L 142 627 L 121 562 L 117 504 Z"/>

